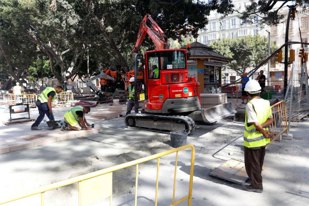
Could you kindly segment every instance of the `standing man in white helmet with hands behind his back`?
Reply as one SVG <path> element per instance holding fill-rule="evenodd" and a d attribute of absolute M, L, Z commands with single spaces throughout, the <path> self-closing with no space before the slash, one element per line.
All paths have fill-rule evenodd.
<path fill-rule="evenodd" d="M 268 100 L 261 99 L 261 86 L 256 80 L 246 84 L 245 91 L 250 96 L 246 105 L 245 128 L 243 132 L 243 146 L 246 172 L 251 185 L 243 185 L 243 190 L 263 192 L 262 166 L 265 156 L 265 145 L 272 136 L 268 126 L 273 123 L 273 115 Z"/>

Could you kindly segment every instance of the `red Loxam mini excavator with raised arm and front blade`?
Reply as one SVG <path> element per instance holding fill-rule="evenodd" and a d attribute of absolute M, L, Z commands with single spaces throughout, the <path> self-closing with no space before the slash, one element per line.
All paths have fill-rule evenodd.
<path fill-rule="evenodd" d="M 136 53 L 146 36 L 155 43 L 154 51 Z M 188 45 L 188 49 L 190 45 Z M 145 104 L 146 113 L 125 117 L 131 128 L 159 131 L 186 131 L 195 129 L 195 122 L 212 124 L 236 113 L 231 103 L 201 109 L 199 83 L 188 77 L 185 49 L 169 49 L 167 37 L 151 18 L 145 15 L 133 49 L 134 67 L 126 79 L 135 76 L 135 101 Z"/>

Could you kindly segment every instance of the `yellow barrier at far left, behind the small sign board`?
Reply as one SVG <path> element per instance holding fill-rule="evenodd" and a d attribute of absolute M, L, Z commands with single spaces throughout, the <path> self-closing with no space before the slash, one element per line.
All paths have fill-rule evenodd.
<path fill-rule="evenodd" d="M 21 93 L 19 96 L 20 102 L 24 104 L 29 104 L 29 106 L 33 106 L 36 104 L 37 95 L 36 94 L 25 94 Z M 17 103 L 17 95 L 14 94 L 3 94 L 4 104 L 7 105 L 15 105 Z"/>

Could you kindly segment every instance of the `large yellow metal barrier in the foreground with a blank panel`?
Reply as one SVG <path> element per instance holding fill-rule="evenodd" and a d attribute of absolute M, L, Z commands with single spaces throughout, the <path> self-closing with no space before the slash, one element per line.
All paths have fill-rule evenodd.
<path fill-rule="evenodd" d="M 184 150 L 187 148 L 191 148 L 191 166 L 190 166 L 190 180 L 189 180 L 189 192 L 188 195 L 184 196 L 180 200 L 175 202 L 175 188 L 176 188 L 176 171 L 177 171 L 177 159 L 178 159 L 178 151 Z M 177 205 L 188 199 L 188 206 L 191 205 L 192 199 L 192 186 L 193 186 L 193 170 L 194 170 L 194 158 L 195 158 L 195 150 L 193 145 L 184 145 L 182 147 L 178 147 L 175 149 L 171 149 L 165 152 L 161 152 L 158 154 L 154 154 L 148 157 L 140 158 L 137 160 L 133 160 L 131 162 L 126 162 L 120 165 L 112 166 L 103 170 L 98 170 L 95 172 L 91 172 L 88 174 L 80 175 L 78 177 L 70 178 L 67 180 L 63 180 L 57 183 L 52 183 L 50 185 L 42 186 L 36 189 L 32 189 L 29 191 L 24 191 L 19 194 L 11 195 L 9 197 L 3 197 L 0 199 L 0 204 L 5 204 L 8 202 L 12 202 L 15 200 L 19 200 L 25 197 L 29 197 L 36 194 L 41 194 L 41 206 L 44 205 L 44 192 L 53 190 L 59 187 L 64 187 L 73 183 L 78 182 L 78 196 L 79 196 L 79 206 L 84 206 L 87 204 L 91 204 L 97 202 L 99 200 L 103 200 L 107 197 L 110 198 L 110 205 L 112 205 L 112 172 L 116 170 L 120 170 L 129 166 L 136 166 L 136 180 L 135 180 L 135 200 L 134 205 L 137 205 L 137 186 L 138 186 L 138 164 L 147 162 L 153 159 L 158 159 L 157 163 L 157 180 L 156 180 L 156 193 L 155 193 L 155 206 L 158 203 L 158 183 L 159 183 L 159 164 L 160 157 L 165 155 L 176 153 L 175 160 L 175 175 L 174 175 L 174 187 L 173 187 L 173 199 L 171 205 Z M 103 184 L 104 183 L 104 184 Z"/>

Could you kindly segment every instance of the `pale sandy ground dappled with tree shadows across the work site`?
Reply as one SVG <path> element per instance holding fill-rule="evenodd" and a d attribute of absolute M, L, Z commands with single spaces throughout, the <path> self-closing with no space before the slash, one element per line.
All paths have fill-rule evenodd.
<path fill-rule="evenodd" d="M 55 119 L 68 108 L 55 108 Z M 107 109 L 107 106 L 93 110 Z M 8 112 L 0 110 L 0 119 Z M 31 117 L 38 112 L 31 109 Z M 87 118 L 88 117 L 88 118 Z M 124 119 L 98 120 L 86 116 L 100 128 L 99 134 L 42 145 L 0 155 L 0 196 L 55 183 L 169 149 L 167 134 L 125 128 Z M 31 123 L 1 125 L 7 135 L 32 134 Z M 44 126 L 44 124 L 42 124 Z M 264 192 L 243 191 L 241 185 L 209 175 L 227 160 L 243 160 L 243 125 L 221 120 L 214 125 L 197 125 L 187 143 L 196 150 L 192 205 L 308 205 L 309 204 L 309 121 L 292 128 L 293 140 L 275 141 L 266 151 L 263 170 Z M 45 129 L 45 128 L 43 128 Z M 233 155 L 229 153 L 233 152 Z M 188 194 L 191 151 L 179 152 L 176 177 L 178 200 Z M 158 205 L 172 203 L 175 154 L 160 158 Z M 157 160 L 139 165 L 138 205 L 155 205 Z M 135 167 L 113 173 L 113 205 L 134 205 Z M 109 205 L 108 200 L 92 205 Z M 187 205 L 187 201 L 179 205 Z M 6 205 L 40 205 L 35 195 Z M 44 205 L 78 205 L 78 185 L 45 193 Z"/>

